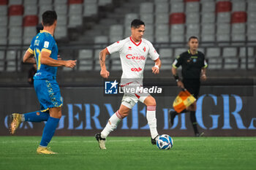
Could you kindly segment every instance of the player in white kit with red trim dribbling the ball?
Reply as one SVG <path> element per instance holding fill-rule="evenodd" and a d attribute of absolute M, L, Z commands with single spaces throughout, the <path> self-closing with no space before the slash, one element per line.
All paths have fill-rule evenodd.
<path fill-rule="evenodd" d="M 127 88 L 132 85 L 143 85 L 143 71 L 146 58 L 149 56 L 155 63 L 152 67 L 154 74 L 159 74 L 161 61 L 159 54 L 154 49 L 151 42 L 143 39 L 145 23 L 142 20 L 132 20 L 132 35 L 121 41 L 113 43 L 99 53 L 99 63 L 101 66 L 100 75 L 108 78 L 110 73 L 105 66 L 106 55 L 118 52 L 121 58 L 123 74 L 121 76 L 121 87 Z M 151 132 L 151 143 L 156 144 L 158 135 L 156 118 L 156 100 L 149 93 L 124 93 L 121 106 L 108 120 L 107 125 L 101 133 L 95 135 L 99 142 L 99 148 L 105 150 L 105 139 L 111 131 L 116 129 L 118 123 L 129 115 L 130 110 L 140 101 L 147 106 L 146 118 Z"/>

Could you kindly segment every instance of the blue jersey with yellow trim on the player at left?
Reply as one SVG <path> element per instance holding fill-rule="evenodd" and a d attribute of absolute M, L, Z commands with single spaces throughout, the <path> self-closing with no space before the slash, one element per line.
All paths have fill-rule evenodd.
<path fill-rule="evenodd" d="M 58 47 L 55 39 L 48 31 L 40 31 L 31 41 L 29 53 L 34 54 L 37 61 L 37 73 L 34 79 L 54 80 L 56 79 L 57 67 L 41 64 L 41 53 L 45 51 L 50 53 L 50 58 L 58 59 Z"/>

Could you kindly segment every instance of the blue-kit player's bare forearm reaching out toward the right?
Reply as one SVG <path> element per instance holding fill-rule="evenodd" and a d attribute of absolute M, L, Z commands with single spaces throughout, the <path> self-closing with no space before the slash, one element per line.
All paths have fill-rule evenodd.
<path fill-rule="evenodd" d="M 47 51 L 42 51 L 41 53 L 41 63 L 48 65 L 48 66 L 66 66 L 69 68 L 74 68 L 76 65 L 76 60 L 72 61 L 62 61 L 62 60 L 54 60 L 53 58 L 50 58 L 50 53 Z"/>

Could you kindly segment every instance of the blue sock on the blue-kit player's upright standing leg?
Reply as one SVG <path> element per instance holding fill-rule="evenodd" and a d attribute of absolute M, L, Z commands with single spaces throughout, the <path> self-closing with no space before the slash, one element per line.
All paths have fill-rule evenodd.
<path fill-rule="evenodd" d="M 47 147 L 48 143 L 52 139 L 55 130 L 57 128 L 57 125 L 59 123 L 58 118 L 49 117 L 47 120 L 47 123 L 45 124 L 44 131 L 42 132 L 42 140 L 40 143 L 40 146 Z"/>

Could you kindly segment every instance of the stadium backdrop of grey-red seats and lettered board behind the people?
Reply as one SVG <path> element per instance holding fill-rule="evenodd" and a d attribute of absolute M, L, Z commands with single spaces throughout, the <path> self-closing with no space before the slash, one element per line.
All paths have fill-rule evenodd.
<path fill-rule="evenodd" d="M 118 109 L 121 97 L 103 94 L 99 76 L 99 50 L 129 36 L 135 18 L 146 23 L 145 38 L 160 54 L 162 69 L 151 74 L 146 61 L 144 77 L 170 82 L 169 93 L 157 96 L 161 134 L 192 136 L 189 115 L 170 127 L 168 109 L 178 94 L 170 74 L 173 58 L 187 50 L 187 39 L 200 39 L 208 60 L 208 78 L 197 103 L 200 131 L 207 136 L 255 136 L 256 1 L 253 0 L 0 0 L 0 135 L 7 135 L 8 115 L 39 108 L 34 89 L 27 83 L 31 65 L 23 53 L 36 34 L 42 12 L 58 14 L 55 38 L 63 59 L 77 59 L 75 69 L 60 68 L 58 82 L 64 98 L 63 117 L 56 135 L 92 136 Z M 114 54 L 106 62 L 110 77 L 121 76 Z M 113 136 L 149 136 L 146 111 L 138 104 L 118 125 Z M 18 135 L 41 135 L 43 123 L 23 123 Z"/>

